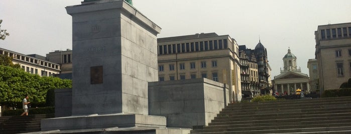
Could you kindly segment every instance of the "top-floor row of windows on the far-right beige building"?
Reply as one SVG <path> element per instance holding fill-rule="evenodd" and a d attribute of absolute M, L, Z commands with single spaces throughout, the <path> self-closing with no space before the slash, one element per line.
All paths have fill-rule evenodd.
<path fill-rule="evenodd" d="M 347 34 L 347 28 L 348 28 L 348 34 Z M 351 27 L 322 29 L 320 30 L 320 32 L 321 32 L 322 39 L 341 38 L 341 37 L 347 37 L 347 35 L 351 37 Z"/>

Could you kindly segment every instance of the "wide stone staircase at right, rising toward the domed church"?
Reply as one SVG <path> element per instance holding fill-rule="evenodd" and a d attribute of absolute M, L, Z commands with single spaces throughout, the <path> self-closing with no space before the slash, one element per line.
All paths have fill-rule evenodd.
<path fill-rule="evenodd" d="M 351 97 L 228 104 L 191 133 L 351 133 Z"/>

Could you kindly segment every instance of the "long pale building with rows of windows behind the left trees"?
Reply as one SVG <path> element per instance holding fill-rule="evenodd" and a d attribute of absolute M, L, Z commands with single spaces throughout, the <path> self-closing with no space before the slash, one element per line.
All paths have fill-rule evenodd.
<path fill-rule="evenodd" d="M 51 76 L 60 73 L 60 65 L 45 60 L 44 56 L 37 54 L 25 55 L 4 48 L 0 48 L 0 54 L 11 56 L 14 64 L 19 63 L 23 70 L 32 74 Z"/>

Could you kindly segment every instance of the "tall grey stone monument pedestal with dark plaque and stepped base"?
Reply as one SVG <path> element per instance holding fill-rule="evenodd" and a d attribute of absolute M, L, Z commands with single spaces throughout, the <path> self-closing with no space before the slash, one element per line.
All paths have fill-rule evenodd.
<path fill-rule="evenodd" d="M 148 115 L 148 82 L 158 80 L 159 26 L 124 0 L 66 10 L 73 21 L 72 116 L 41 120 L 44 133 L 190 132 Z"/>

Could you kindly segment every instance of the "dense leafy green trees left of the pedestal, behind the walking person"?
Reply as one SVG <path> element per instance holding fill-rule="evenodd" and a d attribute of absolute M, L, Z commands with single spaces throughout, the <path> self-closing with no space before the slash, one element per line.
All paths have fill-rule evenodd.
<path fill-rule="evenodd" d="M 25 94 L 31 102 L 45 103 L 49 89 L 71 88 L 72 80 L 58 77 L 39 76 L 19 68 L 0 65 L 0 103 L 15 106 Z"/>

